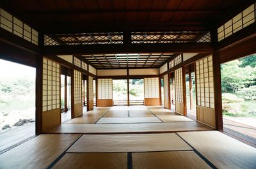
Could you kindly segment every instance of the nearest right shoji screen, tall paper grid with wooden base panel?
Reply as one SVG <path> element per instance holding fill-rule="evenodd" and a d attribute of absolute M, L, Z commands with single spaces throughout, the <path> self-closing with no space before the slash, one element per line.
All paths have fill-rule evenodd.
<path fill-rule="evenodd" d="M 196 61 L 197 120 L 215 128 L 212 55 Z"/>

